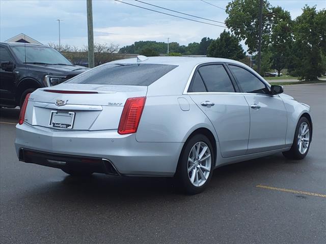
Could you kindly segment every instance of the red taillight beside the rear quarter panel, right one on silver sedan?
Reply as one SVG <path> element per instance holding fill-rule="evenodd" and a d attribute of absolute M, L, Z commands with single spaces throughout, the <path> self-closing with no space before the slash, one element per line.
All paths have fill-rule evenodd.
<path fill-rule="evenodd" d="M 139 121 L 145 106 L 146 97 L 128 98 L 120 118 L 118 133 L 120 135 L 137 132 Z"/>

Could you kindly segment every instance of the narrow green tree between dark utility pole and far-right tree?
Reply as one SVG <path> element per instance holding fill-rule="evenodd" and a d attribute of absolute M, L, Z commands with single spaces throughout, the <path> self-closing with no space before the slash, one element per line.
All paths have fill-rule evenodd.
<path fill-rule="evenodd" d="M 270 59 L 271 67 L 278 71 L 288 67 L 291 60 L 291 47 L 293 45 L 292 20 L 290 13 L 281 7 L 272 8 L 274 24 L 271 26 Z"/>

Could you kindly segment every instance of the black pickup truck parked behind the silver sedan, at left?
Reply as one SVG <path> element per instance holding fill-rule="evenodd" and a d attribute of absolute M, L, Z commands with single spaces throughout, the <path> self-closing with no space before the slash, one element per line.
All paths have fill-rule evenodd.
<path fill-rule="evenodd" d="M 26 94 L 84 71 L 57 50 L 37 44 L 0 43 L 0 107 L 21 106 Z"/>

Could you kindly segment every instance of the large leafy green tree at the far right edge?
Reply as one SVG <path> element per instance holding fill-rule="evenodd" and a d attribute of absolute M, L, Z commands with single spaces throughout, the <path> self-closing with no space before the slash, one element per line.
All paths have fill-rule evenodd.
<path fill-rule="evenodd" d="M 316 80 L 325 72 L 322 54 L 326 52 L 326 10 L 316 11 L 316 7 L 303 8 L 302 15 L 295 19 L 294 69 L 304 80 Z"/>

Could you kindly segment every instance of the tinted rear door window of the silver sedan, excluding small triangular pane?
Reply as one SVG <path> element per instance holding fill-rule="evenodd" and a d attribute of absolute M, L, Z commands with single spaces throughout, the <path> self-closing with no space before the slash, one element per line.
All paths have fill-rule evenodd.
<path fill-rule="evenodd" d="M 198 69 L 207 92 L 234 93 L 231 79 L 223 65 L 206 65 Z"/>

